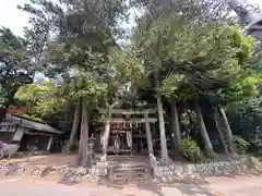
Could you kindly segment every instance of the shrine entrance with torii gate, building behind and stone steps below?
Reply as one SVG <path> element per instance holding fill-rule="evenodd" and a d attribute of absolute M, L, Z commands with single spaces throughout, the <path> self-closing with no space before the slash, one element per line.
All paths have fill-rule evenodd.
<path fill-rule="evenodd" d="M 99 120 L 94 127 L 95 164 L 91 172 L 109 180 L 148 177 L 157 166 L 156 113 L 153 109 L 111 109 L 110 119 Z"/>

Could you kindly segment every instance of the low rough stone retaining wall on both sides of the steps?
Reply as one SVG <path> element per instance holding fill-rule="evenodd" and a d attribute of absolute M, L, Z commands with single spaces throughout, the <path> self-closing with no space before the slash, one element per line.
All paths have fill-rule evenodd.
<path fill-rule="evenodd" d="M 95 168 L 96 169 L 96 168 Z M 182 164 L 175 163 L 168 167 L 153 167 L 154 177 L 170 182 L 174 180 L 195 180 L 212 175 L 236 175 L 250 169 L 247 161 L 223 161 L 213 163 Z M 78 183 L 83 181 L 98 182 L 100 174 L 94 169 L 47 166 L 26 166 L 17 163 L 0 163 L 1 176 L 28 176 L 56 180 L 62 183 Z"/>

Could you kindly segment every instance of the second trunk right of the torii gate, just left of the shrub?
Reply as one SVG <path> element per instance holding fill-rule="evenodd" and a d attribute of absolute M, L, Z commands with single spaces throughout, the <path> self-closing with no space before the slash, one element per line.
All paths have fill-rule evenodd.
<path fill-rule="evenodd" d="M 171 126 L 175 135 L 175 149 L 179 151 L 181 143 L 181 134 L 178 121 L 177 101 L 171 100 Z"/>

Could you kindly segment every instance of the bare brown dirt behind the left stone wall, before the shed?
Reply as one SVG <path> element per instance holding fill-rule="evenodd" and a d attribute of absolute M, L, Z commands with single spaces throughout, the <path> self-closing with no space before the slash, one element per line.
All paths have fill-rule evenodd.
<path fill-rule="evenodd" d="M 28 166 L 76 166 L 76 155 L 62 155 L 62 154 L 52 154 L 52 155 L 43 155 L 34 157 L 23 157 L 23 158 L 12 158 L 10 160 L 3 159 L 0 160 L 0 163 L 7 162 L 17 162 L 25 163 Z"/>

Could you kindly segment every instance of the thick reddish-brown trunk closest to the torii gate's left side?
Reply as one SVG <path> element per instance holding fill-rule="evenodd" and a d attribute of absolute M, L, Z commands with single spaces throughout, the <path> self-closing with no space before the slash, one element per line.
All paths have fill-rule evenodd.
<path fill-rule="evenodd" d="M 81 121 L 81 137 L 79 148 L 79 162 L 81 166 L 87 166 L 87 144 L 88 144 L 88 114 L 87 108 L 82 100 L 82 121 Z"/>

